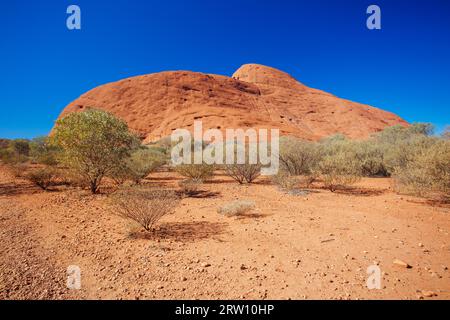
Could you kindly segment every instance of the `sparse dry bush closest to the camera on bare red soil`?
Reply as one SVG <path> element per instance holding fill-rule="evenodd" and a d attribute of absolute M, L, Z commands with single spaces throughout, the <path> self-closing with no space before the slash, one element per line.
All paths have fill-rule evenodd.
<path fill-rule="evenodd" d="M 111 199 L 116 213 L 139 223 L 146 231 L 153 230 L 155 224 L 172 213 L 179 203 L 174 191 L 143 187 L 120 189 Z"/>

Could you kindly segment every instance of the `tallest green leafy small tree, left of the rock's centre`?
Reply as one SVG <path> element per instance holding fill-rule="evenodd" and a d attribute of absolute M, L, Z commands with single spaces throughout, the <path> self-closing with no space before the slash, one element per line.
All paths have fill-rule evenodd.
<path fill-rule="evenodd" d="M 129 132 L 124 121 L 95 109 L 58 120 L 52 142 L 62 150 L 61 162 L 82 175 L 94 194 L 102 179 L 139 145 L 139 139 Z"/>

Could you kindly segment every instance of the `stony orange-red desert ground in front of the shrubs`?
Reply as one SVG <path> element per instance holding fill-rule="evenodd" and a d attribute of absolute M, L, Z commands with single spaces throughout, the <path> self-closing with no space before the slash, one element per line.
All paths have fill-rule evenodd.
<path fill-rule="evenodd" d="M 290 195 L 219 175 L 146 235 L 106 194 L 44 192 L 0 167 L 0 299 L 449 299 L 450 207 L 391 184 Z M 217 213 L 235 199 L 257 208 Z M 81 290 L 66 288 L 69 265 L 81 268 Z M 380 290 L 367 288 L 371 265 Z"/>

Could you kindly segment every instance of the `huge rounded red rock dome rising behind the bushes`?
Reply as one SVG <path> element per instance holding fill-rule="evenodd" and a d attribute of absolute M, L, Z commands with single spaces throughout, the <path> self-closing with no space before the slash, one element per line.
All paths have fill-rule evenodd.
<path fill-rule="evenodd" d="M 190 71 L 133 77 L 95 88 L 61 116 L 98 108 L 123 118 L 147 142 L 179 128 L 277 128 L 282 135 L 318 140 L 336 133 L 366 138 L 385 127 L 408 125 L 398 116 L 309 88 L 287 73 L 242 66 L 233 78 Z"/>

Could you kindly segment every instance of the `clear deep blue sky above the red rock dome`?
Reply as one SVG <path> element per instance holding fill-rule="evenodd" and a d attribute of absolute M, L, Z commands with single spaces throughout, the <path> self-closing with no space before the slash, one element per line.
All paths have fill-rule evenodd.
<path fill-rule="evenodd" d="M 66 9 L 82 10 L 82 30 Z M 366 8 L 382 30 L 366 28 Z M 85 91 L 260 63 L 410 122 L 450 124 L 448 0 L 21 0 L 0 5 L 0 137 L 45 135 Z"/>

